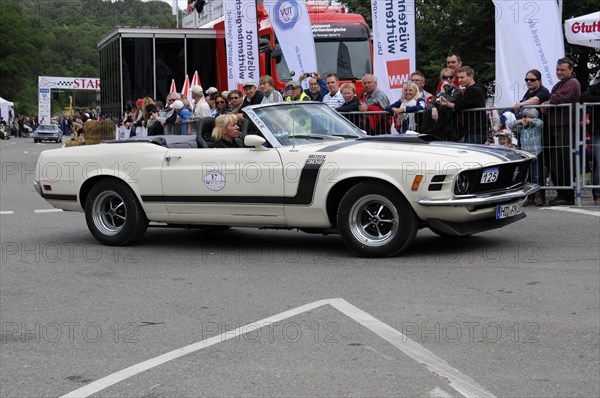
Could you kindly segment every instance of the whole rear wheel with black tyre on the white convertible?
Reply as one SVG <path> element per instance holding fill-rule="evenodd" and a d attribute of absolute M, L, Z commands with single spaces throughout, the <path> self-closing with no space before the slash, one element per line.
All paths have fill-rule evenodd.
<path fill-rule="evenodd" d="M 85 220 L 94 238 L 110 246 L 125 246 L 139 240 L 148 219 L 137 197 L 124 182 L 103 180 L 90 190 Z"/>

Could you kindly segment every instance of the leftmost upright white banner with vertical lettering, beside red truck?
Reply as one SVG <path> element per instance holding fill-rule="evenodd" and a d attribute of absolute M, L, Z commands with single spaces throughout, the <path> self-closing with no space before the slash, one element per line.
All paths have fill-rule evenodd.
<path fill-rule="evenodd" d="M 255 0 L 224 0 L 228 90 L 260 77 Z"/>

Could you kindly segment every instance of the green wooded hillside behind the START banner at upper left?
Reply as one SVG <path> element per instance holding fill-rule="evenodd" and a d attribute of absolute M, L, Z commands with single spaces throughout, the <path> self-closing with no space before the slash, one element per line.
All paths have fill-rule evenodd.
<path fill-rule="evenodd" d="M 171 7 L 140 0 L 0 0 L 0 96 L 17 114 L 37 114 L 38 76 L 97 77 L 96 44 L 117 26 L 174 26 Z M 68 105 L 59 93 L 53 111 Z M 96 105 L 94 93 L 78 101 Z M 83 102 L 87 101 L 87 102 Z"/>

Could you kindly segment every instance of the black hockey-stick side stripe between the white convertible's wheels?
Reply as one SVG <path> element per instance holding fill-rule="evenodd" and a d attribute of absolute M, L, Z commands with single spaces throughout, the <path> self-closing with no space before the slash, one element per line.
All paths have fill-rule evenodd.
<path fill-rule="evenodd" d="M 286 204 L 310 205 L 315 194 L 319 170 L 323 163 L 305 164 L 298 180 L 298 191 L 294 196 L 181 196 L 142 195 L 144 202 L 168 203 L 236 203 L 236 204 Z"/>

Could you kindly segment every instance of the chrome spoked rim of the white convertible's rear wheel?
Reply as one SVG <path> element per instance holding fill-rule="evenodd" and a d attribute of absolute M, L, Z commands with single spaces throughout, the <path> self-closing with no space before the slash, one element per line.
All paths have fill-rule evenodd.
<path fill-rule="evenodd" d="M 114 191 L 104 191 L 92 202 L 92 219 L 98 231 L 107 236 L 121 232 L 127 221 L 123 198 Z"/>

